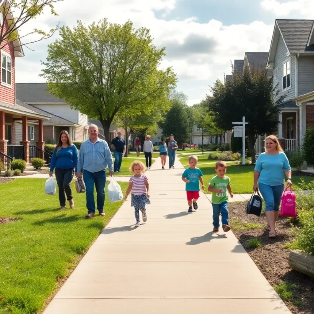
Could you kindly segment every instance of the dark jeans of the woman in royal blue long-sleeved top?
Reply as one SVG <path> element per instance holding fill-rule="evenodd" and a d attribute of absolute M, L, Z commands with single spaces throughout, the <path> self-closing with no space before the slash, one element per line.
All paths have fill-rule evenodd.
<path fill-rule="evenodd" d="M 71 169 L 56 168 L 55 175 L 59 187 L 60 206 L 65 206 L 65 194 L 67 195 L 68 201 L 70 201 L 73 198 L 70 184 L 74 176 L 74 168 Z"/>

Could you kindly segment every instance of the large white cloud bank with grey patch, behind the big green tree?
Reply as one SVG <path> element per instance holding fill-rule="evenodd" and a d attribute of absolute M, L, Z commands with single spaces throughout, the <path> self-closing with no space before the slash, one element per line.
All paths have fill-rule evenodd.
<path fill-rule="evenodd" d="M 112 23 L 133 21 L 134 27 L 150 29 L 154 44 L 165 46 L 168 56 L 162 67 L 173 66 L 178 74 L 178 89 L 189 96 L 189 104 L 197 103 L 209 93 L 212 85 L 223 75 L 231 73 L 230 61 L 242 59 L 246 51 L 268 51 L 273 24 L 263 22 L 224 26 L 222 22 L 212 19 L 207 23 L 198 22 L 196 17 L 185 20 L 157 19 L 154 10 L 169 13 L 179 0 L 66 0 L 57 3 L 58 17 L 52 17 L 49 11 L 38 19 L 25 25 L 21 34 L 26 34 L 34 27 L 50 29 L 58 21 L 72 27 L 77 19 L 85 24 L 107 17 Z M 264 0 L 263 2 L 268 1 Z M 26 57 L 16 62 L 17 82 L 42 82 L 40 60 L 46 58 L 46 46 L 53 38 L 32 44 L 35 52 L 24 49 Z M 182 50 L 180 50 L 180 48 Z M 38 54 L 40 53 L 40 58 Z M 201 86 L 201 87 L 199 87 Z"/>

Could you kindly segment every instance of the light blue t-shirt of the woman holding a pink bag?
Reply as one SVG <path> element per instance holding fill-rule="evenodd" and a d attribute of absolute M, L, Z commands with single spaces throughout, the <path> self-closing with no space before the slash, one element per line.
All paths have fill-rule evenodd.
<path fill-rule="evenodd" d="M 284 184 L 284 171 L 290 169 L 287 156 L 279 152 L 277 155 L 260 154 L 254 170 L 260 172 L 259 183 L 278 186 Z"/>

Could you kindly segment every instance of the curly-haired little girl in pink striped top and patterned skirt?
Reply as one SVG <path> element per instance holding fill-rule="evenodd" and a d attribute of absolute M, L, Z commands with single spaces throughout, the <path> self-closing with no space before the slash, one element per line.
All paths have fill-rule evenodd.
<path fill-rule="evenodd" d="M 135 227 L 140 226 L 139 211 L 142 212 L 143 222 L 146 222 L 147 215 L 145 205 L 150 204 L 149 201 L 149 184 L 147 176 L 144 176 L 145 166 L 141 161 L 135 160 L 130 166 L 130 172 L 134 175 L 131 176 L 129 186 L 124 199 L 131 192 L 131 206 L 134 206 L 134 214 L 136 219 Z"/>

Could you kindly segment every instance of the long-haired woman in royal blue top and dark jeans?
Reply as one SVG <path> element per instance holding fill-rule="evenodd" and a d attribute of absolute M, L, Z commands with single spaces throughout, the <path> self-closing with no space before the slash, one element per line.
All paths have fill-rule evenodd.
<path fill-rule="evenodd" d="M 72 143 L 70 135 L 67 131 L 62 131 L 59 136 L 59 142 L 53 151 L 50 173 L 52 176 L 55 170 L 56 180 L 59 187 L 60 209 L 65 209 L 65 194 L 67 195 L 70 208 L 74 207 L 72 196 L 71 182 L 74 173 L 77 172 L 78 166 L 78 150 Z"/>

